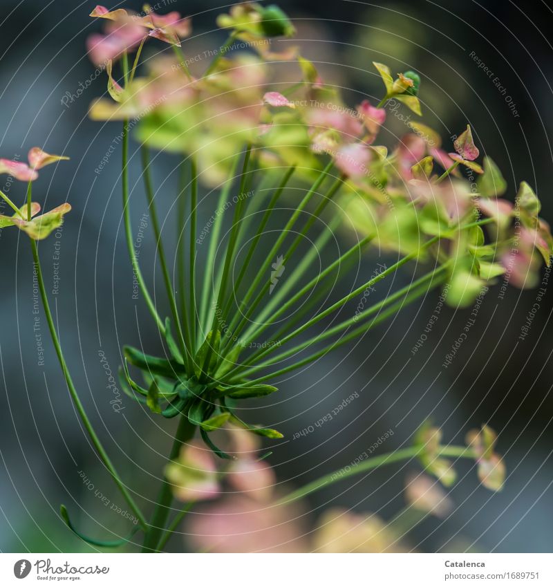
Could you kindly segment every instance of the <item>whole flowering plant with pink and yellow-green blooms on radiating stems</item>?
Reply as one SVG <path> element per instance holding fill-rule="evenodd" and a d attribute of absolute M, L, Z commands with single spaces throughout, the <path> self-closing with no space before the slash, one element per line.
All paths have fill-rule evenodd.
<path fill-rule="evenodd" d="M 477 162 L 480 152 L 470 126 L 452 139 L 451 147 L 442 147 L 440 134 L 420 122 L 409 122 L 397 144 L 380 144 L 386 116 L 398 104 L 422 115 L 420 76 L 413 71 L 393 75 L 386 65 L 375 63 L 384 84 L 382 100 L 376 105 L 363 100 L 349 107 L 298 48 L 271 50 L 273 37 L 294 34 L 290 19 L 277 6 L 243 3 L 218 17 L 217 24 L 229 31 L 229 39 L 203 71 L 199 66 L 191 71 L 197 61 L 187 59 L 181 43 L 191 34 L 191 22 L 178 12 L 158 15 L 145 6 L 137 15 L 97 6 L 91 16 L 105 23 L 104 33 L 88 39 L 88 55 L 106 69 L 108 96 L 91 104 L 90 115 L 93 120 L 120 121 L 123 127 L 122 209 L 129 259 L 167 348 L 165 356 L 156 357 L 147 348 L 125 346 L 122 389 L 160 418 L 177 418 L 178 428 L 148 521 L 86 416 L 41 277 L 35 241 L 59 227 L 71 207 L 64 203 L 36 216 L 40 206 L 32 202 L 32 183 L 37 170 L 66 157 L 35 148 L 29 153 L 29 165 L 0 160 L 1 173 L 28 183 L 23 207 L 0 192 L 15 212 L 0 216 L 0 225 L 15 225 L 30 236 L 48 325 L 68 389 L 98 454 L 139 521 L 131 536 L 100 541 L 80 533 L 62 506 L 69 528 L 104 547 L 120 546 L 142 531 L 144 552 L 153 552 L 162 550 L 194 503 L 215 499 L 222 483 L 281 507 L 348 476 L 413 457 L 446 486 L 456 477 L 447 457 L 473 458 L 480 481 L 500 490 L 505 467 L 494 452 L 496 438 L 489 427 L 471 433 L 467 447 L 456 447 L 443 445 L 441 431 L 426 423 L 411 447 L 367 458 L 346 473 L 329 474 L 278 496 L 277 501 L 270 489 L 272 469 L 264 457 L 243 450 L 240 442 L 244 434 L 270 440 L 282 434 L 244 422 L 236 406 L 276 393 L 273 383 L 279 376 L 366 335 L 430 290 L 443 288 L 444 299 L 458 308 L 472 304 L 498 279 L 521 288 L 533 286 L 540 259 L 550 263 L 553 239 L 539 217 L 540 203 L 532 188 L 523 182 L 514 203 L 503 199 L 507 184 L 489 156 Z M 174 57 L 163 54 L 142 62 L 142 48 L 149 39 L 168 44 Z M 251 50 L 234 51 L 236 41 Z M 297 82 L 277 81 L 282 65 L 292 68 Z M 171 311 L 167 318 L 158 313 L 133 249 L 127 160 L 131 129 L 140 142 L 142 178 Z M 182 157 L 182 185 L 174 212 L 179 241 L 170 256 L 156 212 L 152 149 Z M 292 185 L 292 214 L 247 283 L 264 231 L 281 199 L 290 196 Z M 216 203 L 212 194 L 205 200 L 211 210 L 232 209 L 226 236 L 220 213 L 198 231 L 200 186 L 218 192 Z M 265 194 L 270 194 L 268 201 Z M 329 206 L 335 210 L 332 220 L 285 283 L 279 283 L 286 263 Z M 353 228 L 356 242 L 309 278 L 312 263 L 336 227 L 344 232 Z M 296 236 L 289 242 L 292 233 Z M 198 253 L 204 242 L 208 249 L 200 271 Z M 330 301 L 336 281 L 371 247 L 395 261 L 381 265 L 364 283 Z M 220 250 L 222 259 L 218 259 Z M 173 257 L 178 295 L 169 272 L 168 259 Z M 355 314 L 339 318 L 355 307 L 364 292 L 410 262 L 426 265 L 427 272 L 382 301 L 368 307 L 358 304 Z M 332 319 L 330 326 L 324 322 L 327 318 Z M 301 337 L 303 333 L 308 337 Z M 236 434 L 240 442 L 233 437 Z M 221 459 L 218 465 L 214 456 Z M 167 525 L 174 497 L 187 505 Z"/>

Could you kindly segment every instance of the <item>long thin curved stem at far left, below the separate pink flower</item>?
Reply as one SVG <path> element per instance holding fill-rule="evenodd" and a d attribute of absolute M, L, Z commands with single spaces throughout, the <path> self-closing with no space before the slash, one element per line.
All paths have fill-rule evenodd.
<path fill-rule="evenodd" d="M 124 497 L 124 500 L 126 501 L 126 503 L 129 504 L 131 510 L 133 510 L 133 513 L 137 517 L 142 528 L 147 529 L 148 525 L 146 519 L 144 518 L 144 515 L 142 514 L 140 508 L 138 507 L 138 505 L 136 505 L 131 494 L 129 494 L 129 491 L 126 489 L 125 485 L 121 481 L 118 472 L 115 470 L 113 463 L 111 463 L 111 459 L 109 458 L 108 454 L 106 453 L 106 450 L 104 449 L 104 446 L 102 445 L 102 442 L 100 442 L 100 438 L 97 437 L 97 434 L 93 429 L 91 421 L 88 420 L 88 416 L 86 416 L 86 411 L 84 410 L 84 406 L 79 398 L 79 395 L 77 394 L 77 390 L 75 389 L 75 385 L 73 384 L 73 379 L 71 378 L 71 374 L 69 373 L 64 353 L 62 351 L 62 345 L 59 343 L 59 338 L 57 337 L 54 319 L 52 317 L 52 312 L 50 311 L 50 304 L 48 303 L 48 295 L 46 295 L 46 288 L 44 286 L 44 278 L 42 277 L 42 270 L 40 265 L 37 243 L 30 239 L 30 246 L 32 250 L 32 259 L 35 263 L 35 270 L 37 272 L 37 281 L 39 285 L 40 297 L 42 299 L 42 305 L 44 306 L 44 313 L 46 314 L 46 322 L 48 322 L 50 336 L 52 337 L 52 342 L 54 344 L 59 365 L 62 367 L 62 372 L 64 373 L 64 379 L 66 381 L 69 394 L 71 395 L 71 400 L 73 400 L 73 404 L 75 404 L 77 413 L 79 413 L 79 418 L 81 418 L 81 421 L 88 433 L 88 436 L 91 438 L 93 445 L 97 451 L 97 454 L 100 456 L 102 460 L 102 463 L 104 463 L 106 469 L 108 469 L 111 478 L 113 478 L 113 481 L 115 482 L 115 485 L 118 486 L 122 496 Z"/>

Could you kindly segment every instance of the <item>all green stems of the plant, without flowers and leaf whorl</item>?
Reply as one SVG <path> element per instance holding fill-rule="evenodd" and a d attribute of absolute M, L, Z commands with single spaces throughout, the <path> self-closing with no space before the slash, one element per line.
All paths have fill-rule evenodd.
<path fill-rule="evenodd" d="M 229 39 L 228 46 L 232 44 L 232 39 Z M 141 47 L 140 47 L 141 49 Z M 140 49 L 135 58 L 133 66 L 129 71 L 129 65 L 126 55 L 122 59 L 124 80 L 128 84 L 132 80 L 136 67 L 138 66 L 138 60 L 140 57 Z M 182 55 L 180 55 L 182 61 Z M 213 71 L 213 65 L 210 68 Z M 185 68 L 185 75 L 190 78 L 187 68 Z M 299 84 L 301 86 L 301 84 Z M 299 87 L 299 86 L 298 86 Z M 144 301 L 147 304 L 147 308 L 155 320 L 158 329 L 162 335 L 165 335 L 165 322 L 161 319 L 156 309 L 151 295 L 149 294 L 148 288 L 142 276 L 138 259 L 135 255 L 133 247 L 133 238 L 131 234 L 131 216 L 129 208 L 129 171 L 128 171 L 128 152 L 129 152 L 129 121 L 124 121 L 123 124 L 123 136 L 122 136 L 122 205 L 123 205 L 123 216 L 124 216 L 124 230 L 126 236 L 126 245 L 129 250 L 129 256 L 133 271 L 135 272 L 138 284 L 142 291 Z M 386 318 L 397 313 L 406 304 L 411 303 L 415 299 L 419 299 L 424 296 L 432 288 L 440 286 L 441 283 L 446 279 L 447 274 L 447 261 L 433 268 L 427 274 L 412 281 L 409 286 L 401 288 L 397 292 L 388 295 L 384 300 L 379 301 L 377 304 L 362 310 L 361 313 L 355 317 L 350 317 L 335 324 L 330 328 L 326 328 L 323 332 L 316 333 L 307 340 L 303 340 L 299 344 L 292 346 L 286 350 L 281 350 L 276 355 L 274 354 L 277 350 L 281 349 L 285 344 L 292 341 L 292 339 L 298 337 L 301 333 L 312 328 L 321 320 L 326 317 L 338 313 L 341 308 L 344 308 L 348 302 L 362 295 L 367 288 L 371 288 L 378 281 L 385 279 L 388 275 L 395 273 L 404 263 L 407 263 L 413 259 L 416 259 L 420 253 L 433 246 L 439 246 L 439 239 L 437 236 L 427 240 L 420 245 L 420 249 L 412 254 L 408 254 L 402 259 L 399 259 L 396 263 L 393 263 L 386 270 L 380 272 L 375 277 L 372 277 L 366 283 L 362 284 L 358 288 L 355 288 L 348 295 L 342 297 L 334 304 L 331 304 L 324 310 L 319 310 L 305 320 L 306 314 L 308 314 L 312 308 L 320 303 L 321 299 L 328 295 L 332 286 L 335 283 L 335 279 L 339 272 L 347 270 L 356 261 L 359 261 L 360 255 L 367 248 L 374 238 L 374 235 L 368 235 L 364 239 L 358 241 L 351 248 L 341 254 L 335 261 L 332 261 L 329 265 L 322 270 L 317 277 L 314 277 L 301 286 L 302 278 L 305 276 L 307 270 L 312 266 L 312 263 L 317 260 L 319 253 L 324 246 L 330 241 L 332 231 L 335 230 L 339 221 L 333 219 L 325 225 L 324 230 L 321 231 L 317 239 L 312 244 L 308 252 L 303 255 L 303 258 L 294 270 L 288 274 L 288 277 L 283 283 L 279 284 L 279 288 L 274 295 L 268 300 L 268 290 L 270 288 L 270 265 L 274 261 L 274 258 L 279 254 L 281 249 L 285 245 L 285 239 L 288 235 L 296 230 L 296 225 L 299 223 L 302 215 L 308 216 L 308 219 L 303 223 L 301 230 L 297 231 L 297 236 L 294 238 L 292 243 L 286 249 L 283 255 L 283 264 L 292 257 L 292 254 L 297 250 L 299 245 L 304 241 L 312 225 L 324 212 L 324 209 L 332 201 L 332 198 L 339 192 L 341 186 L 346 179 L 344 176 L 335 174 L 332 162 L 319 173 L 310 189 L 306 192 L 303 199 L 294 209 L 294 212 L 290 216 L 288 222 L 281 230 L 278 238 L 274 242 L 270 252 L 265 257 L 265 261 L 261 263 L 261 266 L 256 269 L 256 275 L 250 283 L 245 293 L 240 296 L 240 301 L 235 304 L 235 300 L 239 294 L 239 288 L 241 287 L 243 280 L 247 274 L 248 264 L 252 260 L 254 252 L 265 227 L 270 221 L 270 217 L 277 207 L 281 194 L 285 191 L 288 182 L 294 175 L 294 167 L 284 169 L 282 172 L 281 180 L 274 182 L 274 173 L 261 174 L 259 169 L 256 169 L 256 157 L 255 151 L 251 146 L 246 146 L 243 153 L 239 152 L 232 163 L 232 169 L 229 174 L 229 178 L 220 187 L 220 194 L 217 202 L 217 210 L 223 209 L 223 206 L 229 201 L 229 196 L 232 193 L 232 188 L 236 178 L 238 181 L 238 200 L 234 205 L 234 214 L 232 218 L 232 226 L 229 232 L 229 238 L 224 245 L 223 262 L 216 268 L 216 256 L 218 248 L 221 245 L 221 234 L 223 231 L 223 214 L 217 214 L 214 225 L 211 228 L 209 234 L 209 245 L 207 250 L 207 258 L 203 263 L 205 268 L 203 274 L 203 280 L 199 280 L 196 274 L 196 230 L 197 230 L 197 217 L 198 217 L 198 174 L 196 171 L 196 165 L 194 157 L 191 156 L 189 160 L 184 160 L 181 167 L 181 179 L 179 185 L 179 192 L 177 196 L 176 206 L 176 231 L 178 234 L 178 246 L 176 251 L 176 265 L 177 265 L 177 276 L 176 279 L 171 277 L 169 272 L 169 263 L 167 263 L 167 256 L 165 248 L 162 243 L 162 234 L 160 230 L 160 223 L 158 213 L 156 209 L 156 194 L 153 188 L 153 181 L 151 179 L 150 171 L 150 160 L 149 151 L 145 146 L 141 147 L 142 156 L 142 178 L 144 180 L 144 189 L 147 196 L 149 205 L 149 212 L 151 214 L 151 225 L 153 227 L 154 236 L 156 238 L 156 249 L 160 266 L 162 270 L 162 277 L 165 283 L 165 289 L 167 290 L 167 297 L 169 299 L 169 307 L 173 322 L 176 327 L 176 336 L 178 346 L 182 353 L 183 360 L 185 362 L 185 368 L 190 377 L 195 376 L 196 371 L 200 370 L 199 380 L 200 383 L 205 385 L 205 389 L 212 389 L 217 386 L 220 382 L 214 378 L 218 366 L 223 362 L 225 355 L 227 355 L 236 344 L 241 344 L 244 348 L 249 346 L 252 342 L 259 342 L 259 337 L 265 333 L 271 324 L 274 324 L 275 320 L 287 312 L 294 310 L 294 306 L 301 301 L 303 298 L 308 296 L 310 293 L 310 299 L 303 305 L 296 308 L 293 311 L 292 317 L 285 319 L 283 325 L 279 328 L 277 333 L 272 335 L 272 339 L 265 341 L 268 345 L 261 344 L 259 349 L 252 353 L 250 356 L 245 358 L 241 357 L 234 369 L 225 375 L 225 384 L 233 384 L 235 382 L 243 380 L 243 378 L 250 378 L 259 372 L 264 374 L 257 376 L 251 383 L 263 382 L 276 378 L 279 375 L 288 373 L 293 369 L 299 369 L 301 366 L 310 364 L 317 360 L 319 357 L 326 355 L 326 353 L 332 351 L 339 346 L 342 346 L 351 340 L 358 338 L 368 330 L 371 330 L 374 326 L 385 320 Z M 241 172 L 237 174 L 237 170 L 242 161 Z M 448 172 L 451 171 L 448 170 Z M 257 176 L 263 175 L 263 180 L 256 189 L 256 197 L 250 198 L 247 196 L 247 191 L 255 185 Z M 447 176 L 447 173 L 443 177 Z M 442 179 L 442 178 L 440 178 Z M 270 189 L 268 183 L 274 182 L 274 187 Z M 324 187 L 326 183 L 330 182 L 328 187 Z M 256 212 L 262 205 L 262 199 L 265 192 L 271 192 L 270 201 L 268 202 L 261 221 L 256 227 L 254 237 L 250 241 L 250 245 L 247 248 L 245 259 L 241 268 L 238 272 L 238 277 L 231 284 L 231 274 L 233 263 L 236 259 L 236 252 L 238 245 L 241 243 L 245 234 L 248 234 L 250 230 L 250 224 L 253 218 L 257 217 Z M 28 188 L 28 219 L 30 219 L 30 194 L 31 185 Z M 9 198 L 0 192 L 0 195 L 19 213 L 19 209 L 9 200 Z M 320 202 L 313 208 L 313 204 L 320 199 Z M 476 221 L 468 224 L 466 228 L 484 224 L 487 221 Z M 167 520 L 169 519 L 169 513 L 171 511 L 172 494 L 171 485 L 167 480 L 162 481 L 162 486 L 156 499 L 156 507 L 154 508 L 151 520 L 148 522 L 138 505 L 136 505 L 129 488 L 121 480 L 118 472 L 115 470 L 113 463 L 109 459 L 100 439 L 95 434 L 95 431 L 88 420 L 82 402 L 79 400 L 77 391 L 71 379 L 71 375 L 68 371 L 62 347 L 59 344 L 59 338 L 55 330 L 55 324 L 53 321 L 52 313 L 48 304 L 48 297 L 46 295 L 46 288 L 44 287 L 44 280 L 41 273 L 40 261 L 37 250 L 37 243 L 30 240 L 32 247 L 32 255 L 37 268 L 37 277 L 39 281 L 39 290 L 41 298 L 44 303 L 46 312 L 46 318 L 50 333 L 52 335 L 53 343 L 59 359 L 59 363 L 62 366 L 64 378 L 68 386 L 68 391 L 71 394 L 71 398 L 75 403 L 77 412 L 79 413 L 84 427 L 88 435 L 90 436 L 98 455 L 102 462 L 109 471 L 115 484 L 118 486 L 125 501 L 129 504 L 129 507 L 137 517 L 139 521 L 139 528 L 144 531 L 144 543 L 143 552 L 155 552 L 161 550 L 165 543 L 171 537 L 172 532 L 176 530 L 178 524 L 182 520 L 182 517 L 191 508 L 192 504 L 186 505 L 184 509 L 174 516 L 174 519 L 167 526 Z M 330 279 L 334 277 L 334 279 Z M 198 281 L 201 281 L 200 288 L 197 291 Z M 178 284 L 178 297 L 175 292 L 175 286 Z M 256 314 L 260 304 L 264 304 L 263 308 Z M 208 366 L 212 364 L 212 357 L 214 348 L 210 347 L 207 356 L 203 360 L 203 364 L 196 365 L 195 357 L 198 352 L 198 348 L 204 342 L 209 332 L 215 330 L 225 330 L 228 335 L 223 336 L 221 340 L 221 347 L 218 349 L 218 355 L 216 355 L 216 366 L 209 369 Z M 332 342 L 328 342 L 321 346 L 321 343 L 332 339 Z M 271 344 L 276 343 L 276 344 Z M 320 346 L 316 351 L 310 355 L 303 357 L 291 364 L 271 371 L 271 366 L 278 364 L 290 357 L 296 356 L 298 353 L 305 351 L 312 346 Z M 272 355 L 272 356 L 271 356 Z M 185 416 L 180 418 L 176 436 L 174 438 L 174 444 L 169 453 L 169 460 L 176 458 L 178 452 L 183 444 L 188 442 L 195 433 L 194 425 L 191 425 Z M 328 474 L 317 481 L 314 481 L 305 487 L 293 492 L 289 496 L 285 496 L 279 503 L 286 503 L 287 501 L 294 501 L 305 497 L 308 494 L 326 487 L 330 483 L 351 476 L 353 474 L 360 474 L 367 472 L 374 467 L 385 465 L 387 463 L 393 463 L 397 460 L 403 460 L 406 458 L 412 458 L 416 456 L 422 447 L 409 447 L 408 449 L 401 449 L 394 451 L 390 454 L 382 456 L 376 456 L 366 460 L 364 463 L 351 469 L 347 475 L 339 475 L 336 477 L 335 474 Z M 463 447 L 442 447 L 442 454 L 449 456 L 471 456 L 467 449 Z M 67 514 L 66 514 L 67 515 Z M 91 539 L 84 537 L 83 534 L 79 533 L 74 525 L 66 520 L 70 525 L 71 529 L 89 543 L 96 546 L 113 547 L 120 546 L 120 544 L 129 541 L 132 537 L 126 537 L 120 541 L 100 541 L 97 539 Z M 134 534 L 134 532 L 133 532 Z"/>

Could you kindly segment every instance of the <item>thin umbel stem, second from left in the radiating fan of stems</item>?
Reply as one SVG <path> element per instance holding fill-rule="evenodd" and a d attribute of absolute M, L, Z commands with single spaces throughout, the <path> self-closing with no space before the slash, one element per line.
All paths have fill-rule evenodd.
<path fill-rule="evenodd" d="M 160 257 L 161 271 L 163 274 L 163 280 L 165 281 L 165 289 L 167 290 L 167 297 L 169 298 L 169 305 L 171 306 L 171 313 L 175 322 L 175 327 L 178 333 L 178 342 L 180 344 L 180 352 L 182 353 L 182 359 L 186 362 L 189 375 L 194 373 L 192 367 L 191 357 L 191 343 L 189 338 L 186 339 L 187 335 L 187 324 L 186 317 L 182 317 L 184 325 L 180 325 L 180 319 L 178 316 L 178 308 L 175 298 L 175 292 L 173 283 L 171 283 L 171 276 L 169 275 L 169 268 L 167 267 L 167 261 L 165 259 L 165 250 L 163 248 L 163 242 L 161 239 L 160 225 L 158 221 L 158 211 L 156 209 L 155 194 L 153 193 L 153 185 L 150 174 L 150 159 L 148 147 L 142 145 L 140 148 L 142 154 L 142 175 L 144 176 L 144 187 L 146 191 L 146 198 L 148 201 L 148 207 L 151 213 L 151 224 L 153 227 L 153 233 L 156 236 L 156 248 Z M 183 332 L 184 330 L 184 332 Z"/>

